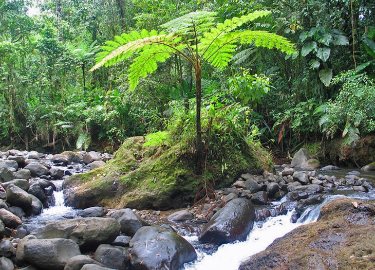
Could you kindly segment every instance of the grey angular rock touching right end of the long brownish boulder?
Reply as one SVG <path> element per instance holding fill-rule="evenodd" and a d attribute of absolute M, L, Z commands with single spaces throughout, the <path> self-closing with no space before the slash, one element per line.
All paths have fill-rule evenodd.
<path fill-rule="evenodd" d="M 111 215 L 121 224 L 121 232 L 127 236 L 134 236 L 142 226 L 149 226 L 138 214 L 130 208 L 117 210 Z"/>

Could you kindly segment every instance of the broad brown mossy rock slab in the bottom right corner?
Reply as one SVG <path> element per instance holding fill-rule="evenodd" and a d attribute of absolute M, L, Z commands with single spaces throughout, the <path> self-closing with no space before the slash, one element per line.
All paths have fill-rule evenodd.
<path fill-rule="evenodd" d="M 239 269 L 375 269 L 375 203 L 338 199 Z"/>

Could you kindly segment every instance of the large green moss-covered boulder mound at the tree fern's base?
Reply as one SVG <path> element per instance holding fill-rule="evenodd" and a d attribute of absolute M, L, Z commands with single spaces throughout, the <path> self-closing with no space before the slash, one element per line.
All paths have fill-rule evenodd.
<path fill-rule="evenodd" d="M 260 146 L 226 151 L 224 160 L 209 154 L 207 177 L 216 186 L 227 186 L 243 172 L 272 169 L 267 152 Z M 220 155 L 222 157 L 222 155 Z M 98 169 L 64 181 L 65 203 L 76 208 L 168 209 L 193 202 L 201 178 L 194 174 L 192 150 L 182 141 L 171 141 L 158 132 L 128 138 L 113 159 Z"/>

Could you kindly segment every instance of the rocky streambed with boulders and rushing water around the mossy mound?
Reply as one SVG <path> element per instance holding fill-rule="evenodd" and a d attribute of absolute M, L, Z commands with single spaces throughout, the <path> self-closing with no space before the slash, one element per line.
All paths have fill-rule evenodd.
<path fill-rule="evenodd" d="M 180 211 L 80 210 L 64 205 L 64 179 L 103 166 L 110 155 L 11 150 L 0 156 L 0 269 L 282 269 L 291 262 L 303 269 L 296 265 L 311 265 L 301 259 L 311 246 L 319 267 L 327 261 L 353 265 L 346 258 L 350 249 L 341 245 L 358 249 L 353 233 L 362 239 L 362 230 L 375 224 L 369 201 L 375 199 L 374 175 L 360 171 L 246 173 L 215 190 L 214 199 Z M 318 219 L 324 231 L 310 224 Z M 348 228 L 351 235 L 340 235 Z M 373 266 L 371 239 L 363 240 L 369 241 L 361 253 L 366 267 Z M 360 261 L 358 252 L 354 256 Z"/>

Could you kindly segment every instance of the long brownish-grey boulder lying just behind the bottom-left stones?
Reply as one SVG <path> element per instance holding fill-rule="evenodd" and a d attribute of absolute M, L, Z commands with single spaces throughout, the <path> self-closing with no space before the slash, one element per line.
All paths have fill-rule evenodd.
<path fill-rule="evenodd" d="M 113 242 L 120 232 L 120 223 L 113 218 L 79 218 L 51 221 L 33 232 L 38 239 L 66 238 L 87 250 Z"/>

